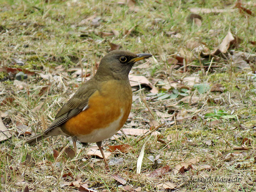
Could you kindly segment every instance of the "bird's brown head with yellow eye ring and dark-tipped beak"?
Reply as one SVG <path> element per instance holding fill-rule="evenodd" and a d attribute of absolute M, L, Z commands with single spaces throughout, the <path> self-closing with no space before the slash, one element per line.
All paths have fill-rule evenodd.
<path fill-rule="evenodd" d="M 111 51 L 101 59 L 96 75 L 101 74 L 101 76 L 109 76 L 115 79 L 127 79 L 136 61 L 151 56 L 147 53 L 135 54 L 124 50 Z"/>

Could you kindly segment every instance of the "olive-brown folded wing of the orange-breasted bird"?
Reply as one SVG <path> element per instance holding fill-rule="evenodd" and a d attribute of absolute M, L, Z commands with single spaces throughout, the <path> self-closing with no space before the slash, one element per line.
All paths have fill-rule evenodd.
<path fill-rule="evenodd" d="M 94 79 L 90 79 L 85 82 L 73 95 L 73 97 L 68 100 L 67 103 L 63 105 L 60 111 L 55 116 L 54 121 L 48 127 L 51 129 L 57 127 L 64 122 L 66 122 L 71 117 L 77 115 L 79 112 L 89 108 L 88 101 L 90 96 L 97 90 L 97 82 Z"/>

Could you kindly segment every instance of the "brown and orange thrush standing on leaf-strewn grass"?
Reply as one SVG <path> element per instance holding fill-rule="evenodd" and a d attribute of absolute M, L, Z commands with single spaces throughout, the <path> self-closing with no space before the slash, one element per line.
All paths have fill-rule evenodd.
<path fill-rule="evenodd" d="M 129 72 L 135 62 L 151 56 L 124 50 L 107 53 L 95 75 L 60 108 L 52 124 L 25 143 L 33 146 L 50 136 L 70 136 L 75 154 L 77 140 L 96 143 L 108 168 L 102 140 L 113 136 L 126 122 L 132 106 Z"/>

